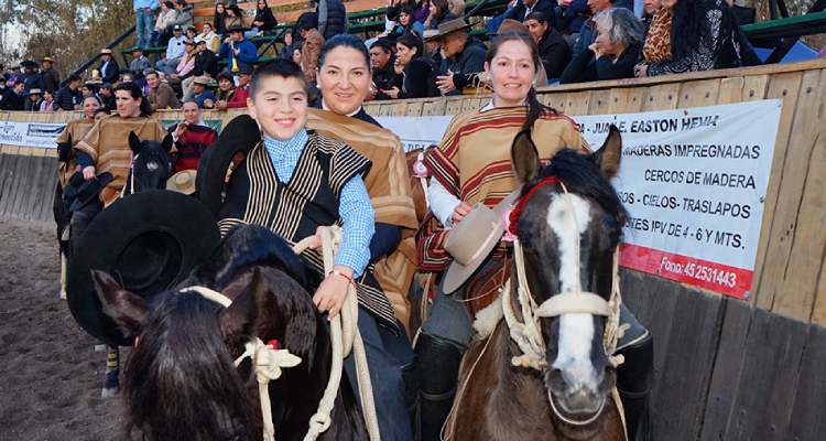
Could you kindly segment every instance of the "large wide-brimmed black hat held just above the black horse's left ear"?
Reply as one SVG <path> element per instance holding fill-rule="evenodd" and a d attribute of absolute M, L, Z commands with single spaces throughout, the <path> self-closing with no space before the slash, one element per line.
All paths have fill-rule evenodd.
<path fill-rule="evenodd" d="M 131 345 L 102 313 L 90 271 L 107 272 L 149 300 L 185 279 L 219 243 L 211 213 L 191 196 L 154 190 L 120 198 L 97 215 L 72 256 L 66 284 L 72 315 L 102 342 Z"/>

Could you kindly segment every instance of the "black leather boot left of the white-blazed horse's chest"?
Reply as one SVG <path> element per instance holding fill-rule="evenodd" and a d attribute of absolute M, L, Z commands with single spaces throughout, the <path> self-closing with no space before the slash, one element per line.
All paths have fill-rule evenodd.
<path fill-rule="evenodd" d="M 461 363 L 455 345 L 422 333 L 416 342 L 420 408 L 419 440 L 438 441 L 442 426 L 450 413 Z"/>

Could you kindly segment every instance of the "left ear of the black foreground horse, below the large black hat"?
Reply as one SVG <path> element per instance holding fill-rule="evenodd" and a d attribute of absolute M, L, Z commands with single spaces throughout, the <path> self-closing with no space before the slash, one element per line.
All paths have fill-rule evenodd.
<path fill-rule="evenodd" d="M 141 323 L 146 318 L 146 301 L 126 290 L 104 271 L 91 270 L 91 280 L 104 314 L 112 319 L 126 336 L 140 334 Z"/>

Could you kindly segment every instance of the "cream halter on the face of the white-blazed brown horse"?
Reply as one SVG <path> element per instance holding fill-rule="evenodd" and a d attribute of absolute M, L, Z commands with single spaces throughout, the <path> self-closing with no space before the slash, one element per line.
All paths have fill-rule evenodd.
<path fill-rule="evenodd" d="M 513 366 L 530 367 L 539 372 L 547 369 L 547 362 L 545 361 L 545 342 L 542 337 L 542 323 L 540 319 L 553 318 L 563 314 L 570 313 L 587 313 L 594 315 L 605 316 L 606 326 L 605 333 L 602 334 L 602 348 L 608 356 L 608 361 L 611 366 L 617 367 L 622 363 L 621 355 L 613 355 L 617 347 L 617 341 L 619 340 L 622 329 L 619 326 L 619 310 L 620 310 L 620 292 L 619 292 L 619 267 L 618 267 L 618 251 L 613 252 L 613 265 L 612 265 L 612 281 L 611 281 L 611 295 L 608 301 L 602 297 L 594 293 L 584 291 L 580 286 L 579 277 L 579 241 L 576 241 L 576 286 L 570 292 L 556 293 L 551 295 L 547 300 L 537 305 L 531 289 L 528 286 L 528 278 L 525 276 L 525 263 L 524 252 L 517 235 L 517 225 L 519 217 L 525 204 L 530 201 L 530 197 L 542 186 L 550 184 L 559 184 L 564 192 L 563 197 L 568 206 L 569 216 L 573 216 L 574 225 L 579 225 L 576 219 L 576 212 L 574 211 L 574 204 L 572 202 L 570 194 L 568 193 L 565 183 L 556 176 L 545 178 L 534 186 L 532 186 L 528 193 L 525 193 L 517 202 L 517 205 L 508 215 L 508 234 L 513 239 L 513 255 L 514 262 L 517 266 L 517 275 L 512 279 L 509 279 L 502 289 L 502 310 L 504 313 L 504 320 L 510 330 L 511 340 L 513 340 L 522 355 L 514 356 L 511 358 Z M 517 314 L 513 311 L 513 304 L 511 302 L 511 280 L 514 280 L 517 301 L 521 306 L 522 321 L 520 322 Z M 600 406 L 599 410 L 590 418 L 586 420 L 573 420 L 563 416 L 557 409 L 552 397 L 548 397 L 551 401 L 551 408 L 559 420 L 570 426 L 587 426 L 596 421 L 596 419 L 602 412 L 605 407 L 605 400 Z"/>

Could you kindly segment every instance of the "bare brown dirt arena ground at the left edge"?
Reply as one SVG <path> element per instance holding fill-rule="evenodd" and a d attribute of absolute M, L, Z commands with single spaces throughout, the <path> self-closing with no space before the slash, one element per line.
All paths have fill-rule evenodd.
<path fill-rule="evenodd" d="M 122 440 L 120 399 L 100 398 L 106 353 L 58 280 L 54 226 L 0 219 L 0 441 Z"/>

